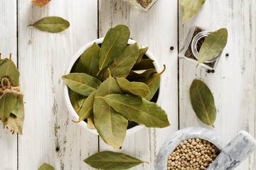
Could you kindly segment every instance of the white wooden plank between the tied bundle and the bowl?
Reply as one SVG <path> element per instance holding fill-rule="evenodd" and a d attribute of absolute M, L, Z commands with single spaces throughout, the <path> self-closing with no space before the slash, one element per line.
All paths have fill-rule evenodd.
<path fill-rule="evenodd" d="M 54 34 L 27 27 L 46 16 L 65 18 L 70 28 Z M 97 38 L 97 1 L 55 0 L 43 8 L 18 1 L 18 35 L 21 84 L 26 93 L 18 169 L 38 169 L 43 162 L 56 170 L 90 169 L 82 160 L 97 152 L 98 137 L 72 122 L 60 77 L 75 52 Z"/>

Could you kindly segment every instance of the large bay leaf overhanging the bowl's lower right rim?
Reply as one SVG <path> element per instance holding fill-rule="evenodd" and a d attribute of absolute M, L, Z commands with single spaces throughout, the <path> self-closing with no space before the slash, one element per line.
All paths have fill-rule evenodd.
<path fill-rule="evenodd" d="M 170 125 L 166 112 L 145 98 L 128 94 L 110 94 L 103 98 L 128 120 L 148 128 L 165 128 Z"/>

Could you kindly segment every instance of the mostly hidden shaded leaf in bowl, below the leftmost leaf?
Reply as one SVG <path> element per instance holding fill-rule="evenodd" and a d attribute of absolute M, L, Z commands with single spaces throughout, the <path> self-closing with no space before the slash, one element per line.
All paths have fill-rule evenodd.
<path fill-rule="evenodd" d="M 79 112 L 80 108 L 82 108 L 82 104 L 85 103 L 86 97 L 75 93 L 75 91 L 71 89 L 69 90 L 69 97 L 73 108 L 76 112 Z"/>

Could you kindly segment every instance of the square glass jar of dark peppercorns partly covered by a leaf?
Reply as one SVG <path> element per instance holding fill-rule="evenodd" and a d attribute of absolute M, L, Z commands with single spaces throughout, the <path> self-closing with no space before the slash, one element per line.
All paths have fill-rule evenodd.
<path fill-rule="evenodd" d="M 191 30 L 188 32 L 188 36 L 183 43 L 180 52 L 178 53 L 178 57 L 198 64 L 199 50 L 203 44 L 203 41 L 210 33 L 212 32 L 208 31 L 206 28 L 201 26 L 193 26 L 193 28 L 191 28 Z M 215 69 L 220 60 L 221 54 L 222 52 L 220 52 L 213 59 L 199 65 L 206 69 Z"/>

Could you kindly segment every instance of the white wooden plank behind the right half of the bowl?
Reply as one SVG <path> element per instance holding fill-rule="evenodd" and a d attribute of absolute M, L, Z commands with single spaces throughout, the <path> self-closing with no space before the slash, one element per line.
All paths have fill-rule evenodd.
<path fill-rule="evenodd" d="M 100 37 L 118 24 L 126 24 L 131 30 L 131 38 L 149 46 L 161 65 L 166 64 L 161 107 L 169 114 L 171 126 L 164 129 L 144 128 L 124 140 L 120 152 L 130 154 L 150 164 L 142 164 L 133 169 L 154 169 L 156 155 L 161 144 L 178 129 L 178 59 L 177 59 L 177 2 L 158 1 L 149 12 L 139 13 L 119 0 L 100 1 Z M 171 51 L 170 47 L 174 46 Z M 113 150 L 100 140 L 100 151 Z"/>

